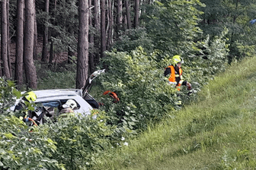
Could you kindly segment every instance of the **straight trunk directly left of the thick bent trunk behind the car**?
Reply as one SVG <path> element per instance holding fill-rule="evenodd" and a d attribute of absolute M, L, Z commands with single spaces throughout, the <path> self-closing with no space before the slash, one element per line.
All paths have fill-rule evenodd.
<path fill-rule="evenodd" d="M 17 0 L 17 32 L 16 32 L 16 58 L 14 80 L 20 89 L 23 83 L 23 36 L 24 36 L 24 0 Z"/>

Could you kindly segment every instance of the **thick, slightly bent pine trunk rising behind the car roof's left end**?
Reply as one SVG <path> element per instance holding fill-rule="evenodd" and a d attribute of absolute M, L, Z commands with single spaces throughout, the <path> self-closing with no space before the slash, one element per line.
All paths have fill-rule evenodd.
<path fill-rule="evenodd" d="M 25 1 L 24 66 L 27 87 L 37 89 L 37 71 L 34 67 L 34 1 Z"/>

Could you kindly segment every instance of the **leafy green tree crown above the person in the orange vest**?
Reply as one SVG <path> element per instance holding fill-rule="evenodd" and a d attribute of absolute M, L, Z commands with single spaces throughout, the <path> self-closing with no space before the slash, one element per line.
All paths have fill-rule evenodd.
<path fill-rule="evenodd" d="M 193 40 L 202 33 L 197 22 L 202 12 L 197 5 L 200 1 L 155 2 L 148 10 L 146 29 L 156 49 L 171 55 L 186 54 L 193 48 Z"/>

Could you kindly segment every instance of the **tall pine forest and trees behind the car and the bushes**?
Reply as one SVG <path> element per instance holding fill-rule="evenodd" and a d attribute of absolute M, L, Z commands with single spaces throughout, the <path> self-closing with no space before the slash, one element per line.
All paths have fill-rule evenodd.
<path fill-rule="evenodd" d="M 40 69 L 35 68 L 34 61 L 49 65 L 66 58 L 69 64 L 75 61 L 72 68 L 76 71 L 76 87 L 81 88 L 88 73 L 104 58 L 104 52 L 112 49 L 130 52 L 142 46 L 146 52 L 159 50 L 162 56 L 179 54 L 190 60 L 194 55 L 209 53 L 206 48 L 200 48 L 198 53 L 191 52 L 197 49 L 194 46 L 198 41 L 206 39 L 207 35 L 213 39 L 225 28 L 229 30 L 225 36 L 229 44 L 229 62 L 254 54 L 255 27 L 249 21 L 255 16 L 255 1 L 177 1 L 177 5 L 193 6 L 190 14 L 186 8 L 176 8 L 174 14 L 165 14 L 164 6 L 150 0 L 26 3 L 22 0 L 1 2 L 0 75 L 12 78 L 18 87 L 25 85 L 37 89 L 41 76 L 37 78 Z M 11 44 L 16 44 L 16 48 Z"/>

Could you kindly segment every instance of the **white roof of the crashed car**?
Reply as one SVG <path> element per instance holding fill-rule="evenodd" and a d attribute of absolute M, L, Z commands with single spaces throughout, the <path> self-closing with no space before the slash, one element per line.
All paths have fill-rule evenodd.
<path fill-rule="evenodd" d="M 82 96 L 82 90 L 78 89 L 55 89 L 55 90 L 34 90 L 37 99 L 44 99 L 56 96 Z"/>

